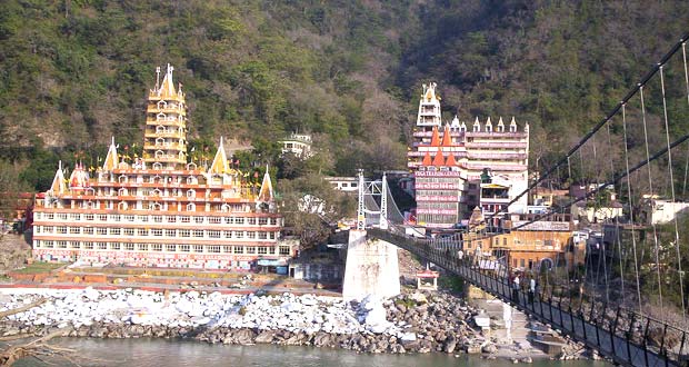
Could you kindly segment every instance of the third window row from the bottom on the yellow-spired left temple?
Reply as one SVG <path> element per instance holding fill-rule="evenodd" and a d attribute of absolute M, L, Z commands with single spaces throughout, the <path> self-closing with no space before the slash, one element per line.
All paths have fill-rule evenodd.
<path fill-rule="evenodd" d="M 118 215 L 118 214 L 80 214 L 80 212 L 37 212 L 37 220 L 92 220 L 129 221 L 156 224 L 196 224 L 196 225 L 239 225 L 239 226 L 279 226 L 280 218 L 271 217 L 204 217 L 204 216 L 158 216 L 158 215 Z"/>

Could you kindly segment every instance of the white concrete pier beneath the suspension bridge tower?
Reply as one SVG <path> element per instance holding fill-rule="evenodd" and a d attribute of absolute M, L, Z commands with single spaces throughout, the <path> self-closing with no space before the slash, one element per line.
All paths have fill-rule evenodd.
<path fill-rule="evenodd" d="M 366 230 L 350 230 L 342 298 L 393 297 L 400 291 L 397 247 L 383 240 L 367 239 Z"/>

